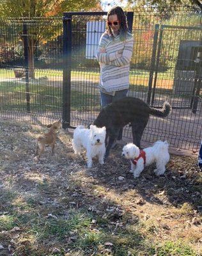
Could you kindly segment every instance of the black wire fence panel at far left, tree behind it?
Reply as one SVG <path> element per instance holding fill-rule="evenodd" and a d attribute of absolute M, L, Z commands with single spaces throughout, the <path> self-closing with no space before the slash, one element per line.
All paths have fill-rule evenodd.
<path fill-rule="evenodd" d="M 59 18 L 0 22 L 1 116 L 47 123 L 62 113 Z"/>

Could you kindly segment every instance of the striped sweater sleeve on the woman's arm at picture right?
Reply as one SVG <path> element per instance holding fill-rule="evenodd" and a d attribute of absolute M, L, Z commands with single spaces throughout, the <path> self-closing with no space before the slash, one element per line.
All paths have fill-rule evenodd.
<path fill-rule="evenodd" d="M 121 54 L 120 58 L 116 58 L 116 60 L 111 61 L 109 64 L 117 67 L 125 66 L 130 63 L 132 58 L 132 49 L 134 44 L 134 38 L 131 36 L 125 43 L 123 48 L 123 53 Z"/>

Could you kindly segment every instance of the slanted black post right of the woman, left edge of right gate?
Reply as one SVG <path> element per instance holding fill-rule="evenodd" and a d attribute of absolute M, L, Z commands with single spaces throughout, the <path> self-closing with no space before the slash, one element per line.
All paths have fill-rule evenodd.
<path fill-rule="evenodd" d="M 148 81 L 148 96 L 147 96 L 147 104 L 150 104 L 151 95 L 152 95 L 152 81 L 153 81 L 153 72 L 155 68 L 155 56 L 157 51 L 157 41 L 159 35 L 159 24 L 155 24 L 155 32 L 153 36 L 153 49 L 152 49 L 152 58 L 150 64 L 150 77 Z"/>

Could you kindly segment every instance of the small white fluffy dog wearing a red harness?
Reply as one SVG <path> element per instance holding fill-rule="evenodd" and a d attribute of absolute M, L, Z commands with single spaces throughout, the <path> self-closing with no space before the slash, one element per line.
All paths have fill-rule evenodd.
<path fill-rule="evenodd" d="M 169 161 L 168 143 L 167 141 L 157 141 L 152 147 L 139 148 L 133 143 L 128 143 L 123 147 L 122 156 L 130 159 L 131 170 L 134 178 L 139 177 L 143 172 L 144 166 L 156 163 L 157 169 L 154 170 L 157 176 L 163 175 L 166 171 L 166 164 Z"/>

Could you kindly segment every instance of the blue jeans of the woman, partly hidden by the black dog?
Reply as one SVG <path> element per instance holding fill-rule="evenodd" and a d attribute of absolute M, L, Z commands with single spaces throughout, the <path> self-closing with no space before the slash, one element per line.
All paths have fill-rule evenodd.
<path fill-rule="evenodd" d="M 106 106 L 107 104 L 110 104 L 114 100 L 118 100 L 118 99 L 126 97 L 127 92 L 128 92 L 128 89 L 116 91 L 115 95 L 113 96 L 113 95 L 109 95 L 107 93 L 104 93 L 104 92 L 100 91 L 100 98 L 101 98 L 102 108 L 104 108 L 104 106 Z M 120 129 L 117 140 L 122 139 L 122 134 L 123 134 L 123 129 Z"/>

